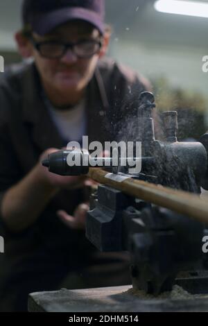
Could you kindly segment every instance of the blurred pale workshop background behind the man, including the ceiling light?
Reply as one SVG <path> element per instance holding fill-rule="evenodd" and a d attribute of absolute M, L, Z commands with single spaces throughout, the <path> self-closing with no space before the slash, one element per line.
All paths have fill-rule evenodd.
<path fill-rule="evenodd" d="M 202 71 L 202 57 L 208 55 L 208 1 L 106 3 L 106 22 L 112 26 L 109 55 L 152 82 L 158 110 L 178 111 L 180 139 L 197 139 L 208 129 L 208 72 Z M 0 2 L 0 55 L 6 65 L 21 60 L 13 39 L 21 27 L 20 8 L 21 0 Z"/>

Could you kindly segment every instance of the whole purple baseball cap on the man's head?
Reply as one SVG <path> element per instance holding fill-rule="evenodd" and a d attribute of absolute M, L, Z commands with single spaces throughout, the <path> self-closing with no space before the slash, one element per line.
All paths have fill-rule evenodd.
<path fill-rule="evenodd" d="M 30 24 L 39 35 L 61 24 L 81 19 L 104 33 L 105 0 L 24 0 L 24 25 Z"/>

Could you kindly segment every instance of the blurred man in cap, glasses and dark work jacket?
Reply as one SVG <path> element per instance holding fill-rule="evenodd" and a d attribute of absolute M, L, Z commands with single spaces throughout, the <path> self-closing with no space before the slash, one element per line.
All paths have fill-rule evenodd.
<path fill-rule="evenodd" d="M 10 67 L 0 82 L 1 311 L 26 311 L 34 291 L 130 282 L 127 255 L 99 253 L 85 239 L 89 180 L 40 164 L 83 135 L 113 140 L 147 88 L 102 59 L 110 40 L 104 7 L 104 0 L 24 0 L 15 39 L 33 60 Z"/>

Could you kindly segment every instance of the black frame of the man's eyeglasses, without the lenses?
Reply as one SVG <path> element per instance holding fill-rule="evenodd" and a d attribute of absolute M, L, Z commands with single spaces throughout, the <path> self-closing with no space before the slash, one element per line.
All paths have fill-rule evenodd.
<path fill-rule="evenodd" d="M 87 59 L 87 58 L 91 58 L 93 55 L 95 55 L 96 53 L 98 53 L 98 51 L 101 50 L 101 47 L 103 46 L 103 40 L 83 40 L 80 42 L 76 42 L 76 43 L 72 43 L 72 42 L 58 42 L 58 41 L 41 41 L 41 42 L 37 42 L 33 37 L 30 37 L 31 43 L 33 44 L 33 46 L 35 47 L 35 49 L 40 53 L 40 55 L 42 55 L 43 58 L 48 58 L 48 59 L 60 59 L 64 56 L 65 53 L 67 53 L 68 49 L 71 49 L 71 51 L 73 52 L 73 54 L 75 54 L 77 56 L 77 58 L 80 59 Z M 98 49 L 96 51 L 94 51 L 93 53 L 91 53 L 90 55 L 79 55 L 78 53 L 76 53 L 76 51 L 74 50 L 74 47 L 78 44 L 86 44 L 86 43 L 94 43 L 94 44 L 98 44 Z M 60 46 L 63 46 L 63 51 L 62 54 L 57 55 L 57 56 L 49 56 L 49 55 L 43 55 L 41 52 L 41 46 L 45 45 L 45 44 L 57 44 Z"/>

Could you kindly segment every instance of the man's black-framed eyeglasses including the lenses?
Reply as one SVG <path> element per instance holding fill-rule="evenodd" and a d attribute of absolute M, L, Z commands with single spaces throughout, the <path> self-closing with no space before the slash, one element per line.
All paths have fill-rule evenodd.
<path fill-rule="evenodd" d="M 31 38 L 35 49 L 44 58 L 60 59 L 67 53 L 68 49 L 77 56 L 77 58 L 90 58 L 100 51 L 103 45 L 101 40 L 83 40 L 77 43 L 63 43 L 58 41 L 37 42 Z"/>

